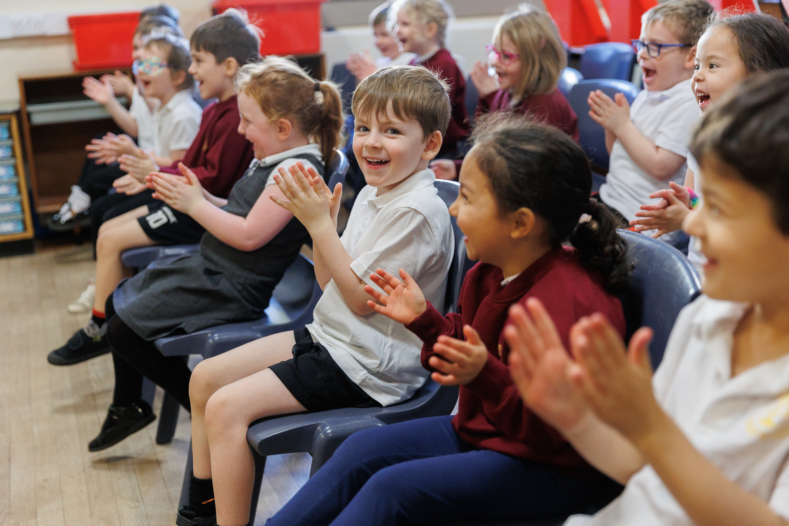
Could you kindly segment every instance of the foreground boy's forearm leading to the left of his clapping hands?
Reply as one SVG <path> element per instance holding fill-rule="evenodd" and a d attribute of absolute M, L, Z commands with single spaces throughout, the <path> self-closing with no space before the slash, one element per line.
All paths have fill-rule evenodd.
<path fill-rule="evenodd" d="M 580 426 L 564 435 L 581 457 L 620 484 L 626 484 L 644 467 L 641 452 L 619 431 L 592 413 Z"/>

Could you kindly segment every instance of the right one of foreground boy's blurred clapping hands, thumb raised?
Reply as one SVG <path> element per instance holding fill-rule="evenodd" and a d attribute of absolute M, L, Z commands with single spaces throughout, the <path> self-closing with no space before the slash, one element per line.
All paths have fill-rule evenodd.
<path fill-rule="evenodd" d="M 652 390 L 652 330 L 637 330 L 626 350 L 603 315 L 581 318 L 575 327 L 573 355 L 580 367 L 571 371 L 572 379 L 596 416 L 639 447 L 665 416 Z"/>

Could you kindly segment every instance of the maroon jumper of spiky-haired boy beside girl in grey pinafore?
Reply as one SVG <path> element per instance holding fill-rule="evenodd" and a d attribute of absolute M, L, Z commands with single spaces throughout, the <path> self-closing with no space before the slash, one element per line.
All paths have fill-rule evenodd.
<path fill-rule="evenodd" d="M 208 193 L 226 199 L 254 156 L 252 143 L 238 133 L 240 121 L 236 95 L 223 103 L 209 104 L 184 158 L 161 171 L 180 175 L 178 162 L 183 162 Z"/>

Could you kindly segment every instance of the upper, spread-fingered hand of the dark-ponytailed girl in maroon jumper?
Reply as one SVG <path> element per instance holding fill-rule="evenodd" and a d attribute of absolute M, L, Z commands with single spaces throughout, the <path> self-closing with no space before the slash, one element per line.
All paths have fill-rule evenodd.
<path fill-rule="evenodd" d="M 400 277 L 402 282 L 386 270 L 377 269 L 376 274 L 370 274 L 370 279 L 383 290 L 383 293 L 370 285 L 365 285 L 365 293 L 378 301 L 378 303 L 372 300 L 367 302 L 372 310 L 394 319 L 395 322 L 407 325 L 428 308 L 428 303 L 424 300 L 419 285 L 406 270 L 400 269 Z"/>

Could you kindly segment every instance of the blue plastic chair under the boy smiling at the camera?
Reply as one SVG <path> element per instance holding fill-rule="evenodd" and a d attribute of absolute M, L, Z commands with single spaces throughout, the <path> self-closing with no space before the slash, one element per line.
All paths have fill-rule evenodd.
<path fill-rule="evenodd" d="M 455 181 L 436 181 L 439 197 L 449 206 L 457 197 L 460 185 Z M 447 296 L 460 290 L 458 280 L 465 275 L 464 270 L 473 266 L 466 257 L 463 236 L 454 218 L 451 219 L 455 252 L 447 282 Z M 458 298 L 453 297 L 445 304 L 445 310 L 456 309 Z M 303 325 L 302 325 L 303 326 Z M 298 328 L 297 326 L 293 327 Z M 288 329 L 290 330 L 290 328 Z M 267 334 L 279 332 L 278 327 L 261 331 Z M 254 521 L 257 501 L 260 496 L 260 483 L 263 479 L 265 458 L 282 453 L 308 452 L 312 455 L 310 475 L 315 473 L 342 442 L 356 431 L 379 427 L 390 423 L 413 420 L 426 416 L 448 415 L 458 399 L 457 386 L 439 386 L 428 379 L 409 400 L 385 408 L 340 408 L 323 412 L 305 412 L 295 415 L 272 416 L 258 420 L 249 427 L 247 440 L 252 446 L 255 457 L 255 483 L 252 490 L 250 524 Z M 181 504 L 188 501 L 189 472 L 192 466 L 191 453 L 184 474 Z"/>

